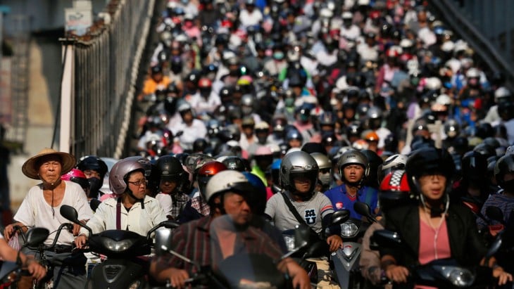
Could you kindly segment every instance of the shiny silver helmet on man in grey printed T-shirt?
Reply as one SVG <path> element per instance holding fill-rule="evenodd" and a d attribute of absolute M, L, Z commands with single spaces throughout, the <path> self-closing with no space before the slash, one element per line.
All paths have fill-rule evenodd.
<path fill-rule="evenodd" d="M 309 191 L 313 192 L 319 170 L 318 162 L 308 153 L 301 150 L 287 153 L 280 164 L 280 186 L 293 192 L 295 191 L 293 179 L 296 176 L 305 176 L 311 181 Z"/>

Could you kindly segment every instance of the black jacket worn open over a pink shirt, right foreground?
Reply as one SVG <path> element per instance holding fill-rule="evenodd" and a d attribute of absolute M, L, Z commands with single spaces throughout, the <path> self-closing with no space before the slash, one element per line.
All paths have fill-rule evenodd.
<path fill-rule="evenodd" d="M 400 233 L 400 248 L 381 248 L 380 255 L 393 255 L 403 266 L 418 265 L 420 214 L 417 205 L 406 205 L 386 214 L 385 228 Z M 451 257 L 463 266 L 478 265 L 487 252 L 479 237 L 475 217 L 461 205 L 450 205 L 446 214 Z"/>

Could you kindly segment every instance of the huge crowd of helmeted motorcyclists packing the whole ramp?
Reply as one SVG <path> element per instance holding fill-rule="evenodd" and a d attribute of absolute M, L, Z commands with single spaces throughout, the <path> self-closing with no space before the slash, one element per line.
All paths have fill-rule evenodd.
<path fill-rule="evenodd" d="M 429 8 L 418 0 L 168 1 L 137 97 L 132 156 L 109 170 L 95 155 L 42 150 L 23 165 L 42 184 L 4 238 L 15 225 L 54 232 L 69 221 L 59 208 L 74 207 L 91 230 L 74 224 L 45 257 L 55 288 L 83 288 L 81 250 L 92 234 L 146 236 L 172 220 L 180 226 L 169 249 L 192 262 L 151 256 L 141 262 L 149 281 L 183 288 L 199 267 L 245 252 L 278 260 L 295 288 L 311 288 L 301 262 L 281 257 L 281 232 L 308 227 L 330 263 L 344 248 L 334 212 L 368 222 L 354 210 L 365 203 L 377 222 L 361 240 L 362 286 L 406 283 L 416 265 L 456 259 L 489 267 L 491 285 L 511 288 L 512 248 L 494 256 L 487 248 L 497 236 L 513 240 L 514 98 L 505 77 L 480 66 Z M 213 230 L 227 216 L 232 226 Z M 373 247 L 382 229 L 399 233 L 401 247 Z M 13 259 L 6 246 L 1 257 Z M 42 267 L 27 261 L 37 252 L 26 255 L 41 278 Z"/>

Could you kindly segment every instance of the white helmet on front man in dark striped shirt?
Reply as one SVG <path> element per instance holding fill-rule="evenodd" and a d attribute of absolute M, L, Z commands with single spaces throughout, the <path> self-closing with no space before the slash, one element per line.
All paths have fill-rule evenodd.
<path fill-rule="evenodd" d="M 208 180 L 205 197 L 207 203 L 213 204 L 213 198 L 216 195 L 232 191 L 234 193 L 247 194 L 253 191 L 248 179 L 242 172 L 227 169 L 215 174 Z"/>

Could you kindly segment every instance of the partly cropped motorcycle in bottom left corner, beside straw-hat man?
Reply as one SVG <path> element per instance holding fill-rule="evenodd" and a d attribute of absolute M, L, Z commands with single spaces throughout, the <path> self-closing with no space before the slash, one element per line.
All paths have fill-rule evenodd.
<path fill-rule="evenodd" d="M 18 229 L 16 228 L 18 227 Z M 36 248 L 48 238 L 49 231 L 45 228 L 32 228 L 27 231 L 27 235 L 25 236 L 20 226 L 15 226 L 15 231 L 20 231 L 20 236 L 22 236 L 23 245 L 20 250 L 18 250 L 18 255 L 16 256 L 15 262 L 3 261 L 0 264 L 0 288 L 17 288 L 16 284 L 20 281 L 22 276 L 29 276 L 27 270 L 22 268 L 22 262 L 20 259 L 20 252 L 23 248 Z"/>

